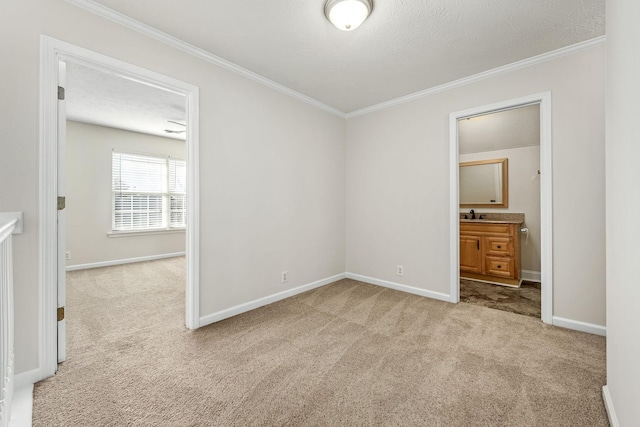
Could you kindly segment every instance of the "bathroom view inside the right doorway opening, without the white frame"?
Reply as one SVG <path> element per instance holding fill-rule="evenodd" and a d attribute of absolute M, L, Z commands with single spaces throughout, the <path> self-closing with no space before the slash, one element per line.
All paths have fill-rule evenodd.
<path fill-rule="evenodd" d="M 458 120 L 460 301 L 541 317 L 540 104 Z"/>

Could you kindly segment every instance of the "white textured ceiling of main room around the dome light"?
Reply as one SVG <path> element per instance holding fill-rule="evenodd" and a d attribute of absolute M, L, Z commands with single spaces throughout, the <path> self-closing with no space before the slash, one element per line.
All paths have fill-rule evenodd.
<path fill-rule="evenodd" d="M 605 0 L 374 0 L 351 32 L 325 0 L 94 3 L 346 113 L 605 32 Z"/>

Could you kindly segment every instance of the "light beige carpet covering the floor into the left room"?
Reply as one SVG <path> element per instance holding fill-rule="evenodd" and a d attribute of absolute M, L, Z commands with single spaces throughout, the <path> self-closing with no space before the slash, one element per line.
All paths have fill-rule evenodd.
<path fill-rule="evenodd" d="M 602 337 L 353 280 L 187 331 L 184 259 L 68 274 L 34 426 L 606 426 Z"/>

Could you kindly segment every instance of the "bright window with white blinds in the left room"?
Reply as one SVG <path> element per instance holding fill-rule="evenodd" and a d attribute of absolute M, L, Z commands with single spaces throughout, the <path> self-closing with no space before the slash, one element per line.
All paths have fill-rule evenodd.
<path fill-rule="evenodd" d="M 113 231 L 186 226 L 184 160 L 114 151 L 111 165 Z"/>

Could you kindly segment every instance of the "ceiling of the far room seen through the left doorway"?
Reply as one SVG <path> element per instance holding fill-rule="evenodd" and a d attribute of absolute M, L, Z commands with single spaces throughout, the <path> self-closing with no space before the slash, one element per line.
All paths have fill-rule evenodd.
<path fill-rule="evenodd" d="M 67 119 L 133 132 L 185 139 L 184 133 L 170 134 L 165 129 L 182 131 L 186 99 L 153 86 L 67 63 Z"/>

